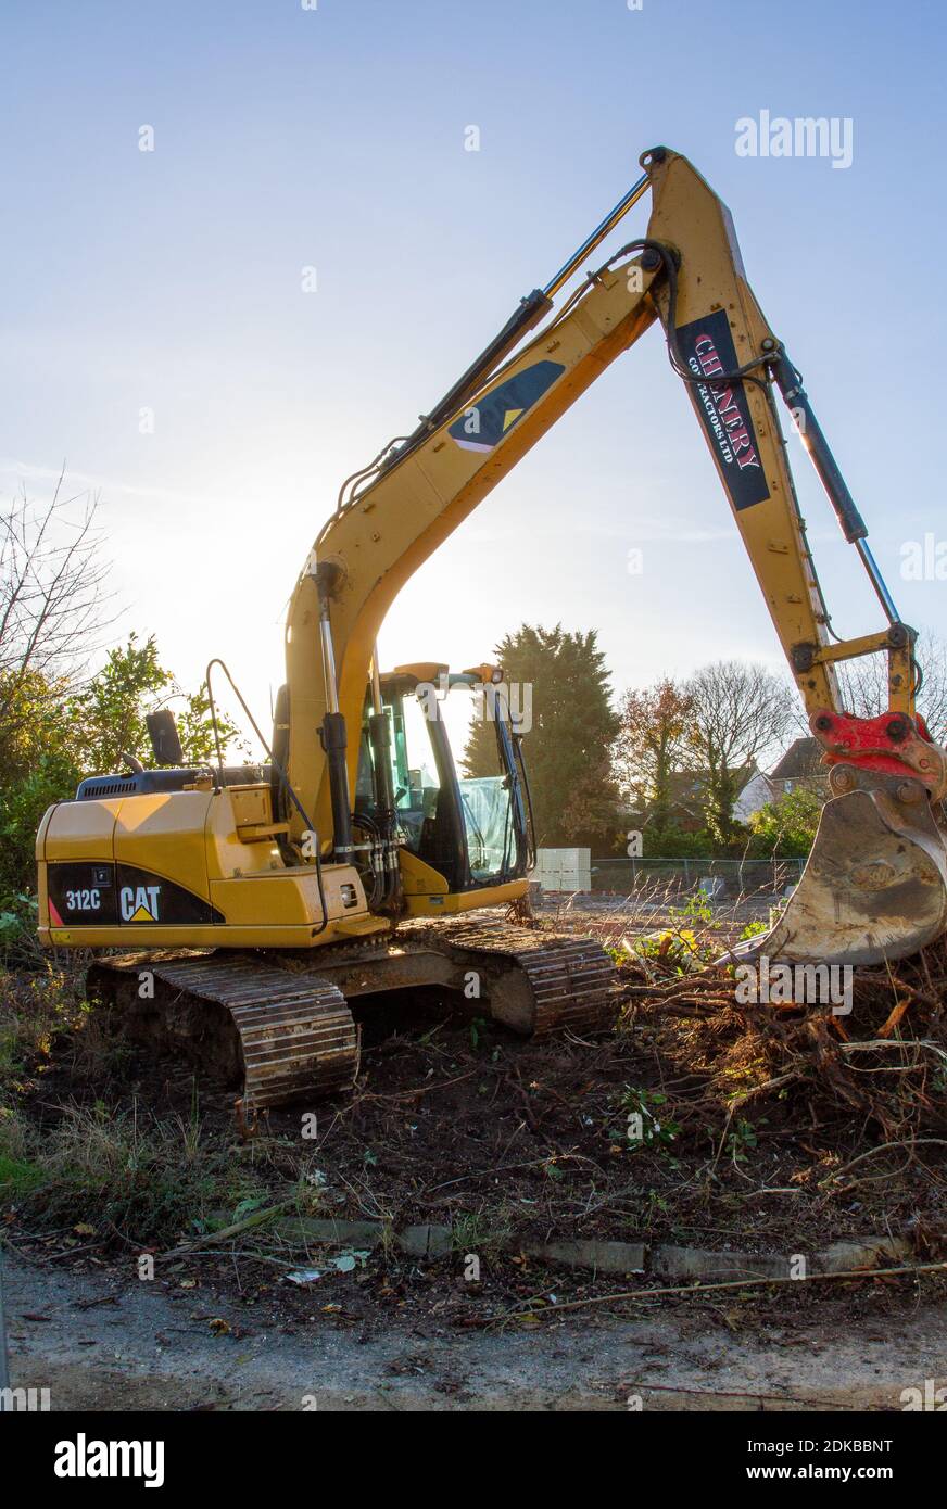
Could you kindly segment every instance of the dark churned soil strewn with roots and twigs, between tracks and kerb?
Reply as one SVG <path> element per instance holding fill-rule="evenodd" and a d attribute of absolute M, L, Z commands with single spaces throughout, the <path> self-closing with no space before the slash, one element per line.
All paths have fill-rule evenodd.
<path fill-rule="evenodd" d="M 124 1160 L 131 1172 L 103 1180 L 92 1166 L 63 1191 L 39 1188 L 15 1207 L 14 1234 L 27 1249 L 36 1239 L 65 1242 L 68 1252 L 79 1245 L 72 1228 L 86 1237 L 89 1227 L 98 1255 L 160 1252 L 227 1224 L 240 1197 L 290 1195 L 299 1215 L 391 1231 L 452 1225 L 464 1251 L 512 1284 L 518 1271 L 500 1249 L 517 1243 L 598 1237 L 779 1254 L 942 1224 L 945 1147 L 936 1139 L 849 1172 L 891 1138 L 870 1108 L 825 1093 L 819 1040 L 807 1044 L 799 1082 L 785 1085 L 764 1056 L 781 1052 L 781 1040 L 775 1049 L 757 1040 L 726 1008 L 692 1016 L 684 1002 L 678 1016 L 672 1000 L 652 1017 L 648 997 L 633 1026 L 604 1040 L 529 1043 L 476 1011 L 450 1014 L 452 1005 L 436 993 L 408 1005 L 378 997 L 359 1013 L 355 1091 L 273 1109 L 251 1141 L 237 1133 L 233 1091 L 186 1062 L 122 1047 L 110 1080 L 86 1080 L 63 1041 L 23 1114 L 41 1142 L 88 1144 L 89 1162 L 118 1169 Z M 631 1141 L 636 1114 L 642 1138 Z M 148 1136 L 166 1145 L 165 1165 L 175 1156 L 198 1172 L 201 1157 L 219 1163 L 233 1195 L 198 1189 L 201 1209 L 189 1212 L 174 1166 L 137 1156 Z M 162 1180 L 171 1188 L 159 1191 Z M 298 1255 L 272 1242 L 266 1249 L 287 1266 Z"/>

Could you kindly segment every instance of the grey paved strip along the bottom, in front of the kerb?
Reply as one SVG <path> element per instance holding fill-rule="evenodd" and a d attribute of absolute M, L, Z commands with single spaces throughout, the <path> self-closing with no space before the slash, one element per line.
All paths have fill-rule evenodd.
<path fill-rule="evenodd" d="M 6 1295 L 14 1384 L 51 1409 L 900 1411 L 902 1390 L 947 1381 L 947 1308 L 881 1286 L 855 1308 L 642 1302 L 500 1332 L 372 1328 L 322 1295 L 290 1323 L 214 1286 L 17 1259 Z"/>

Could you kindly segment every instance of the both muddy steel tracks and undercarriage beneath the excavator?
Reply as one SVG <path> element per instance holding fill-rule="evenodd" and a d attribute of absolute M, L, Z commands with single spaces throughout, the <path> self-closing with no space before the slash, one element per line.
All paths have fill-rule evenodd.
<path fill-rule="evenodd" d="M 352 999 L 441 985 L 535 1038 L 610 1031 L 621 1007 L 615 966 L 598 943 L 489 913 L 406 924 L 381 943 L 307 954 L 98 960 L 88 985 L 127 1013 L 131 1035 L 184 1047 L 201 1067 L 242 1079 L 243 1118 L 352 1086 L 359 1061 Z"/>

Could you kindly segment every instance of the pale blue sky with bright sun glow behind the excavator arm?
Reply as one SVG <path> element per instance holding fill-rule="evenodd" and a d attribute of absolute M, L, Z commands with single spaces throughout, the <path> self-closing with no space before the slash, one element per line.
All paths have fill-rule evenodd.
<path fill-rule="evenodd" d="M 947 635 L 947 584 L 900 578 L 947 528 L 945 30 L 878 0 L 8 0 L 0 490 L 42 499 L 63 460 L 98 487 L 121 628 L 186 682 L 222 655 L 266 717 L 341 480 L 666 142 L 734 213 L 903 617 Z M 763 109 L 850 118 L 852 166 L 737 155 Z M 835 626 L 879 628 L 791 454 Z M 474 664 L 524 619 L 598 628 L 616 690 L 781 665 L 657 329 L 418 572 L 382 658 Z"/>

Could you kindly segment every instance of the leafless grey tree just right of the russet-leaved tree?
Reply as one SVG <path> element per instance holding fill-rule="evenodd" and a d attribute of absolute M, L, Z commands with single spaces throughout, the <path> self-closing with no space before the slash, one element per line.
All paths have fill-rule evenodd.
<path fill-rule="evenodd" d="M 690 747 L 707 771 L 707 822 L 720 842 L 736 833 L 742 777 L 793 726 L 793 690 L 763 665 L 717 661 L 684 684 Z"/>

